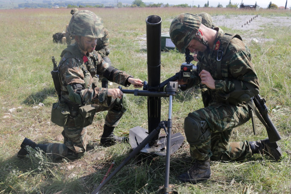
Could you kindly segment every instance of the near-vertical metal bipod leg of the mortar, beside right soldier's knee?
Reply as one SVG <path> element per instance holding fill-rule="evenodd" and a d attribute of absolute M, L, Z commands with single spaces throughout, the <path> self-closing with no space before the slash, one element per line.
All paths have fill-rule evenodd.
<path fill-rule="evenodd" d="M 167 122 L 168 135 L 167 135 L 164 194 L 168 194 L 169 193 L 170 157 L 171 157 L 171 133 L 172 133 L 172 102 L 173 102 L 173 96 L 170 95 L 169 96 L 169 117 L 168 117 L 168 122 Z"/>

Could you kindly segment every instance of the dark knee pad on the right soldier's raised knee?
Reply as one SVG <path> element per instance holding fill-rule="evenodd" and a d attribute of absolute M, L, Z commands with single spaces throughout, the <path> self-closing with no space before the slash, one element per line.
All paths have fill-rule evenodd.
<path fill-rule="evenodd" d="M 184 131 L 190 144 L 198 145 L 210 137 L 210 129 L 206 121 L 198 117 L 187 116 L 184 121 Z"/>

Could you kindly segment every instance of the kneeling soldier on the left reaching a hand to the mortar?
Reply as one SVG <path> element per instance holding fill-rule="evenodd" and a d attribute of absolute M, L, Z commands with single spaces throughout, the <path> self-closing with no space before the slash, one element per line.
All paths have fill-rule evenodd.
<path fill-rule="evenodd" d="M 124 86 L 133 84 L 134 87 L 141 87 L 143 81 L 108 65 L 97 53 L 96 41 L 104 34 L 102 21 L 93 12 L 84 10 L 75 13 L 68 25 L 68 32 L 76 43 L 68 45 L 61 54 L 62 59 L 58 66 L 61 95 L 59 102 L 53 105 L 51 113 L 51 120 L 64 127 L 64 144 L 36 144 L 25 138 L 17 154 L 19 158 L 28 154 L 27 146 L 41 149 L 53 159 L 80 158 L 86 151 L 86 126 L 92 123 L 96 112 L 105 110 L 108 113 L 100 139 L 101 145 L 111 146 L 125 141 L 124 137 L 113 134 L 126 111 L 124 94 L 118 88 L 97 87 L 94 76 L 99 74 Z"/>

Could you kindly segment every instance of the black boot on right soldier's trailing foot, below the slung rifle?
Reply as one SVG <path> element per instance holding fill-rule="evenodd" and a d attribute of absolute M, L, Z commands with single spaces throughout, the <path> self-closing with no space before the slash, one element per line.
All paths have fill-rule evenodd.
<path fill-rule="evenodd" d="M 276 142 L 271 143 L 269 138 L 254 142 L 249 142 L 253 154 L 266 154 L 279 161 L 282 156 L 281 148 Z"/>

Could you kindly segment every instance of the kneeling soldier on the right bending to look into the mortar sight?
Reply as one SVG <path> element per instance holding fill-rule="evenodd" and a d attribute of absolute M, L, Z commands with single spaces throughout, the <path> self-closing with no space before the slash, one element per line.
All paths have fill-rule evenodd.
<path fill-rule="evenodd" d="M 239 161 L 253 154 L 266 154 L 278 161 L 281 149 L 269 139 L 230 143 L 232 130 L 250 119 L 247 102 L 259 94 L 259 80 L 250 50 L 239 35 L 202 24 L 198 15 L 180 14 L 171 23 L 170 37 L 184 53 L 199 51 L 199 69 L 179 84 L 190 88 L 202 84 L 204 107 L 189 113 L 184 131 L 194 165 L 178 179 L 195 184 L 210 178 L 210 159 Z"/>

